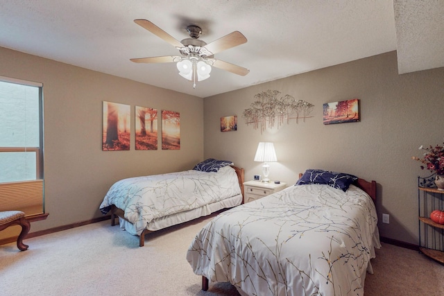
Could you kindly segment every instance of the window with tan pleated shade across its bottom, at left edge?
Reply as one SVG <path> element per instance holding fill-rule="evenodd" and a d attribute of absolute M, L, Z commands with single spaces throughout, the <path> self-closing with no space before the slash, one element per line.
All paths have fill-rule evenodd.
<path fill-rule="evenodd" d="M 0 211 L 44 213 L 42 93 L 0 76 Z"/>

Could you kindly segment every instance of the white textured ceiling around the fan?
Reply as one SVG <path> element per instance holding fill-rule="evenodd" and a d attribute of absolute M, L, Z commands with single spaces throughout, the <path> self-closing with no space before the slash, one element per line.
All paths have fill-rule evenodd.
<path fill-rule="evenodd" d="M 207 43 L 240 31 L 215 58 L 250 73 L 213 68 L 193 89 L 174 63 L 130 62 L 179 54 L 134 19 L 179 41 L 189 24 Z M 400 73 L 444 67 L 444 1 L 1 0 L 0 46 L 205 98 L 393 50 Z"/>

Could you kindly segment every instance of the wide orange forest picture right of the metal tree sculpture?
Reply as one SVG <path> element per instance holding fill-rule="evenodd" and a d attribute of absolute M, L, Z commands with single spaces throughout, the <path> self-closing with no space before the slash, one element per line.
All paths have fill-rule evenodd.
<path fill-rule="evenodd" d="M 325 103 L 323 105 L 324 124 L 359 121 L 359 99 Z"/>

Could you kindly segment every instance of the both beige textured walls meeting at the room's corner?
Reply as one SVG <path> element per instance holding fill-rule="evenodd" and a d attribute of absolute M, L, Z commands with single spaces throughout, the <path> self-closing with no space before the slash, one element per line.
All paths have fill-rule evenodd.
<path fill-rule="evenodd" d="M 443 68 L 400 76 L 391 52 L 201 99 L 0 48 L 0 76 L 44 84 L 49 218 L 33 223 L 31 232 L 100 217 L 113 182 L 191 168 L 204 156 L 234 161 L 250 180 L 262 173 L 253 162 L 257 143 L 273 141 L 273 180 L 293 184 L 307 168 L 376 180 L 379 218 L 391 218 L 379 223 L 382 236 L 418 243 L 416 177 L 427 172 L 411 157 L 420 156 L 420 145 L 444 141 Z M 254 130 L 241 114 L 266 89 L 314 104 L 314 117 Z M 323 125 L 323 103 L 350 98 L 360 100 L 361 122 Z M 103 152 L 103 101 L 131 105 L 133 119 L 135 105 L 180 112 L 180 150 L 136 151 L 132 122 L 131 150 Z M 221 116 L 229 115 L 238 116 L 237 132 L 220 132 Z"/>

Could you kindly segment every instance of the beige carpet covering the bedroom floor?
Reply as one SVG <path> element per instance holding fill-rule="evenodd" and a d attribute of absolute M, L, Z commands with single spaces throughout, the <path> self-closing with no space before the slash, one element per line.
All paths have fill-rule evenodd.
<path fill-rule="evenodd" d="M 110 221 L 29 238 L 25 252 L 0 245 L 0 295 L 239 295 L 230 284 L 200 290 L 185 254 L 210 218 L 139 240 Z M 367 275 L 365 295 L 444 295 L 444 265 L 383 244 Z"/>

